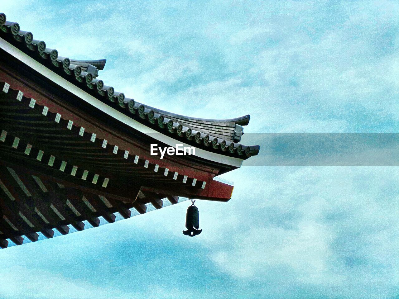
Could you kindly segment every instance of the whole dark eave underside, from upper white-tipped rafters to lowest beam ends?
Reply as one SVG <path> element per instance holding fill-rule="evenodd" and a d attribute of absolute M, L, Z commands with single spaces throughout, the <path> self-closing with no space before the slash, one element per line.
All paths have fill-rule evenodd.
<path fill-rule="evenodd" d="M 16 96 L 18 97 L 17 90 L 0 92 L 0 129 L 6 129 L 1 130 L 0 136 L 1 248 L 8 246 L 6 239 L 17 245 L 22 244 L 24 238 L 37 241 L 38 232 L 47 238 L 53 236 L 54 229 L 60 234 L 68 234 L 69 225 L 78 231 L 83 230 L 85 220 L 93 227 L 99 226 L 100 216 L 107 222 L 114 222 L 116 212 L 123 218 L 129 218 L 132 208 L 142 214 L 146 212 L 147 203 L 160 209 L 162 199 L 167 198 L 174 204 L 179 199 L 176 195 L 194 195 L 203 186 L 203 182 L 195 184 L 192 178 L 182 183 L 182 175 L 175 180 L 172 178 L 173 173 L 164 174 L 165 169 L 159 168 L 158 172 L 154 172 L 154 164 L 145 168 L 142 159 L 138 163 L 132 162 L 132 157 L 124 159 L 120 154 L 113 153 L 112 147 L 102 148 L 102 140 L 91 142 L 91 134 L 88 132 L 80 136 L 78 127 L 67 129 L 67 120 L 54 122 L 55 113 L 47 112 L 43 115 L 43 106 L 28 106 L 32 99 L 21 96 L 18 100 Z M 24 128 L 27 124 L 31 124 L 28 132 Z M 28 138 L 30 144 L 26 142 Z M 58 150 L 50 149 L 54 143 L 62 141 L 69 146 L 61 145 Z M 45 149 L 41 155 L 37 145 Z M 82 155 L 79 154 L 79 148 L 88 146 L 91 149 L 86 149 L 86 155 L 96 154 L 96 161 L 91 163 L 79 157 Z M 47 162 L 51 160 L 50 154 L 60 154 L 63 158 L 55 157 L 50 165 Z M 70 161 L 69 158 L 76 160 Z M 118 167 L 115 165 L 107 168 L 101 162 L 102 159 Z M 63 160 L 68 163 L 61 169 Z M 78 171 L 72 174 L 72 165 L 75 162 L 85 166 L 78 167 Z M 100 176 L 93 183 L 94 171 L 99 168 L 101 171 L 97 173 Z M 89 169 L 84 180 L 81 179 L 83 169 Z M 129 171 L 127 175 L 126 171 Z M 107 187 L 101 186 L 104 175 L 109 176 L 111 172 L 117 175 L 110 176 L 111 181 Z M 127 181 L 132 175 L 134 179 Z M 157 185 L 165 191 L 140 187 L 142 183 Z M 117 199 L 115 195 L 126 200 Z"/>

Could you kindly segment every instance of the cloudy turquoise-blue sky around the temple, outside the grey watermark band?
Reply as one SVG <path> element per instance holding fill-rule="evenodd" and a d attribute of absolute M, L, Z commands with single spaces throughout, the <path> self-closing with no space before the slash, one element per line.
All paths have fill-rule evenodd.
<path fill-rule="evenodd" d="M 1 1 L 61 56 L 246 133 L 398 133 L 398 2 Z M 245 144 L 245 135 L 243 143 Z M 252 159 L 256 159 L 253 157 Z M 0 251 L 0 298 L 399 298 L 395 167 L 242 167 L 228 203 L 181 203 Z"/>

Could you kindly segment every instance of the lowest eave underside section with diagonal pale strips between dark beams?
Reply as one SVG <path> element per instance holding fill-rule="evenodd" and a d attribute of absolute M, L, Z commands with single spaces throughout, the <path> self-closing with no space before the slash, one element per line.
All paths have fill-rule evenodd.
<path fill-rule="evenodd" d="M 100 225 L 99 217 L 112 223 L 115 213 L 130 218 L 132 208 L 144 214 L 146 203 L 161 209 L 164 198 L 172 204 L 179 201 L 176 196 L 136 191 L 137 201 L 124 203 L 3 165 L 0 165 L 0 185 L 0 248 L 8 246 L 6 239 L 16 245 L 22 244 L 25 237 L 34 242 L 38 240 L 38 232 L 52 238 L 54 230 L 68 234 L 69 225 L 78 231 L 83 230 L 85 220 L 97 227 Z"/>

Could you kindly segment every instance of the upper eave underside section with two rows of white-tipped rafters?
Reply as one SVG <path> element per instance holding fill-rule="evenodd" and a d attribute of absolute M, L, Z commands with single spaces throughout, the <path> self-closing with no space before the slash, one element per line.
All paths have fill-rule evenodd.
<path fill-rule="evenodd" d="M 18 90 L 0 91 L 0 108 L 0 164 L 4 161 L 10 167 L 39 171 L 127 202 L 134 200 L 128 191 L 133 187 L 191 198 L 230 198 L 229 192 L 214 191 L 217 182 L 211 179 L 217 167 L 196 169 L 198 161 L 158 165 L 159 159 L 147 160 L 138 148 L 130 148 L 129 153 Z"/>

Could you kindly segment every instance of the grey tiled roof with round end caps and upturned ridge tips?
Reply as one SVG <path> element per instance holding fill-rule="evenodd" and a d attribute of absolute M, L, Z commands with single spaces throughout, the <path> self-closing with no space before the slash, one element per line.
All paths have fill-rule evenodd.
<path fill-rule="evenodd" d="M 56 49 L 47 48 L 44 41 L 34 39 L 31 32 L 20 30 L 18 23 L 6 21 L 3 13 L 0 13 L 0 37 L 95 98 L 162 134 L 207 151 L 241 159 L 259 153 L 259 146 L 237 143 L 241 140 L 243 126 L 249 123 L 249 115 L 225 120 L 193 118 L 136 102 L 97 78 L 106 59 L 61 57 Z"/>

